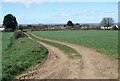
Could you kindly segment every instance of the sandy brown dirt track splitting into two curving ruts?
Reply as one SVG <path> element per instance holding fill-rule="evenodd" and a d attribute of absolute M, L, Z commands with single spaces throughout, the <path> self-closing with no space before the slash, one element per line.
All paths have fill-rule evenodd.
<path fill-rule="evenodd" d="M 35 36 L 35 35 L 33 35 Z M 48 51 L 44 63 L 37 65 L 33 70 L 25 72 L 16 78 L 20 79 L 117 79 L 118 62 L 110 59 L 96 50 L 65 42 L 36 38 L 57 42 L 75 49 L 82 58 L 70 59 L 61 50 L 40 41 Z M 33 39 L 32 39 L 33 40 Z"/>

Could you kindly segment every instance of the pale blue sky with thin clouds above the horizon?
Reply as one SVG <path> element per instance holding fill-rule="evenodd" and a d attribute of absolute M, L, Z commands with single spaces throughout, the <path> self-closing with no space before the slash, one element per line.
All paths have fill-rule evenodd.
<path fill-rule="evenodd" d="M 4 0 L 0 11 L 0 24 L 7 14 L 14 15 L 19 24 L 64 24 L 68 20 L 73 23 L 100 23 L 103 17 L 112 17 L 118 22 L 117 0 Z"/>

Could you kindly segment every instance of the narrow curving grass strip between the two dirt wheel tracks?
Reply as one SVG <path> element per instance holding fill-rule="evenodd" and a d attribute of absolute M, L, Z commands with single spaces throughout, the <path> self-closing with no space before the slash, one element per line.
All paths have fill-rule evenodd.
<path fill-rule="evenodd" d="M 59 48 L 60 50 L 62 50 L 66 55 L 68 55 L 70 58 L 80 58 L 80 54 L 78 54 L 74 49 L 66 46 L 66 45 L 63 45 L 63 44 L 59 44 L 59 43 L 55 43 L 55 42 L 50 42 L 50 41 L 46 41 L 46 40 L 41 40 L 41 39 L 38 39 L 32 35 L 29 34 L 30 37 L 32 37 L 33 39 L 36 39 L 36 40 L 39 40 L 41 42 L 44 42 L 46 44 L 49 44 L 49 45 L 52 45 L 52 46 L 55 46 L 57 48 Z"/>

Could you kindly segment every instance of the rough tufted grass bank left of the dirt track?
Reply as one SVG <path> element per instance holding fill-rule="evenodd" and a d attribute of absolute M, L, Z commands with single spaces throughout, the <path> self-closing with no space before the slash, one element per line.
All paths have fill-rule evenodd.
<path fill-rule="evenodd" d="M 2 54 L 3 81 L 10 81 L 29 67 L 41 63 L 46 54 L 47 49 L 45 47 L 27 37 L 13 41 L 12 45 Z"/>

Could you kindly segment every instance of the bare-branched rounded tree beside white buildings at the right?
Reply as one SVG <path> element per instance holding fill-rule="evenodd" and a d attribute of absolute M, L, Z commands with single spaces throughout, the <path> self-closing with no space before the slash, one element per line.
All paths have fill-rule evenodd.
<path fill-rule="evenodd" d="M 111 25 L 113 25 L 114 19 L 110 18 L 110 17 L 104 17 L 101 21 L 101 25 L 104 27 L 110 27 Z"/>

